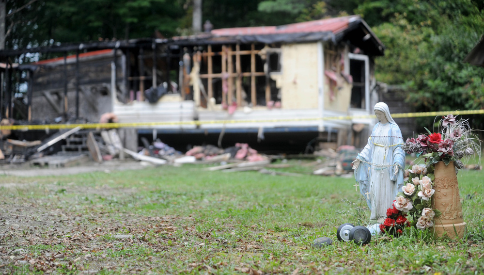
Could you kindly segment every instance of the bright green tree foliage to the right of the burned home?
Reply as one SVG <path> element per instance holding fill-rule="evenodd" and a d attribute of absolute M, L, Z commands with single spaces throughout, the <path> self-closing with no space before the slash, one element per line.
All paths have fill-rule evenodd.
<path fill-rule="evenodd" d="M 376 59 L 376 79 L 406 84 L 417 111 L 484 108 L 484 69 L 463 63 L 483 35 L 483 8 L 474 0 L 365 1 L 356 12 L 387 48 Z"/>

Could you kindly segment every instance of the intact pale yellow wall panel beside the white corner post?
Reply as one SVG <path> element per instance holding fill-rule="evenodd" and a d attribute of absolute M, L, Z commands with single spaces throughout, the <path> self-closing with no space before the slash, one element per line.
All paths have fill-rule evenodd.
<path fill-rule="evenodd" d="M 281 104 L 283 109 L 318 108 L 316 43 L 282 46 Z"/>

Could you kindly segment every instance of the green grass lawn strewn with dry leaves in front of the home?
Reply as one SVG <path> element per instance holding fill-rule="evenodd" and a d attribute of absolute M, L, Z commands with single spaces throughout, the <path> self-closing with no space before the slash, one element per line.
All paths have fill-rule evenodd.
<path fill-rule="evenodd" d="M 335 241 L 369 213 L 353 178 L 205 171 L 198 165 L 61 177 L 0 176 L 0 273 L 483 274 L 484 174 L 461 171 L 465 240 L 420 230 Z M 353 204 L 345 202 L 349 200 Z"/>

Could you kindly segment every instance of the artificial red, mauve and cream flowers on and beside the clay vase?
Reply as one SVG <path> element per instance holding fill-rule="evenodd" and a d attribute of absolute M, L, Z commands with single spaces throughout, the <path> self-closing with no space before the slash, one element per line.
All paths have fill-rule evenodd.
<path fill-rule="evenodd" d="M 434 165 L 453 162 L 457 169 L 464 168 L 461 159 L 470 157 L 475 152 L 480 159 L 480 141 L 472 132 L 467 120 L 457 120 L 449 114 L 439 121 L 440 131 L 421 134 L 417 138 L 408 138 L 402 149 L 407 153 L 416 153 L 423 158 L 425 164 L 413 165 L 404 173 L 404 185 L 392 206 L 387 210 L 387 218 L 380 225 L 382 232 L 389 232 L 394 236 L 402 234 L 406 226 L 415 226 L 425 230 L 434 226 L 434 219 L 442 213 L 432 209 Z M 406 221 L 407 215 L 412 216 L 413 222 Z"/>

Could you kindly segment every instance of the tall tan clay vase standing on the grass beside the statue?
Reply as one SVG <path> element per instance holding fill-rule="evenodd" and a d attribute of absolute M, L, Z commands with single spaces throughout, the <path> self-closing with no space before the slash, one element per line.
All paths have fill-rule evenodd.
<path fill-rule="evenodd" d="M 462 215 L 454 163 L 445 165 L 444 162 L 437 162 L 434 176 L 435 194 L 432 196 L 432 208 L 442 212 L 442 215 L 434 219 L 435 236 L 440 238 L 445 235 L 451 239 L 462 239 L 466 223 Z"/>

